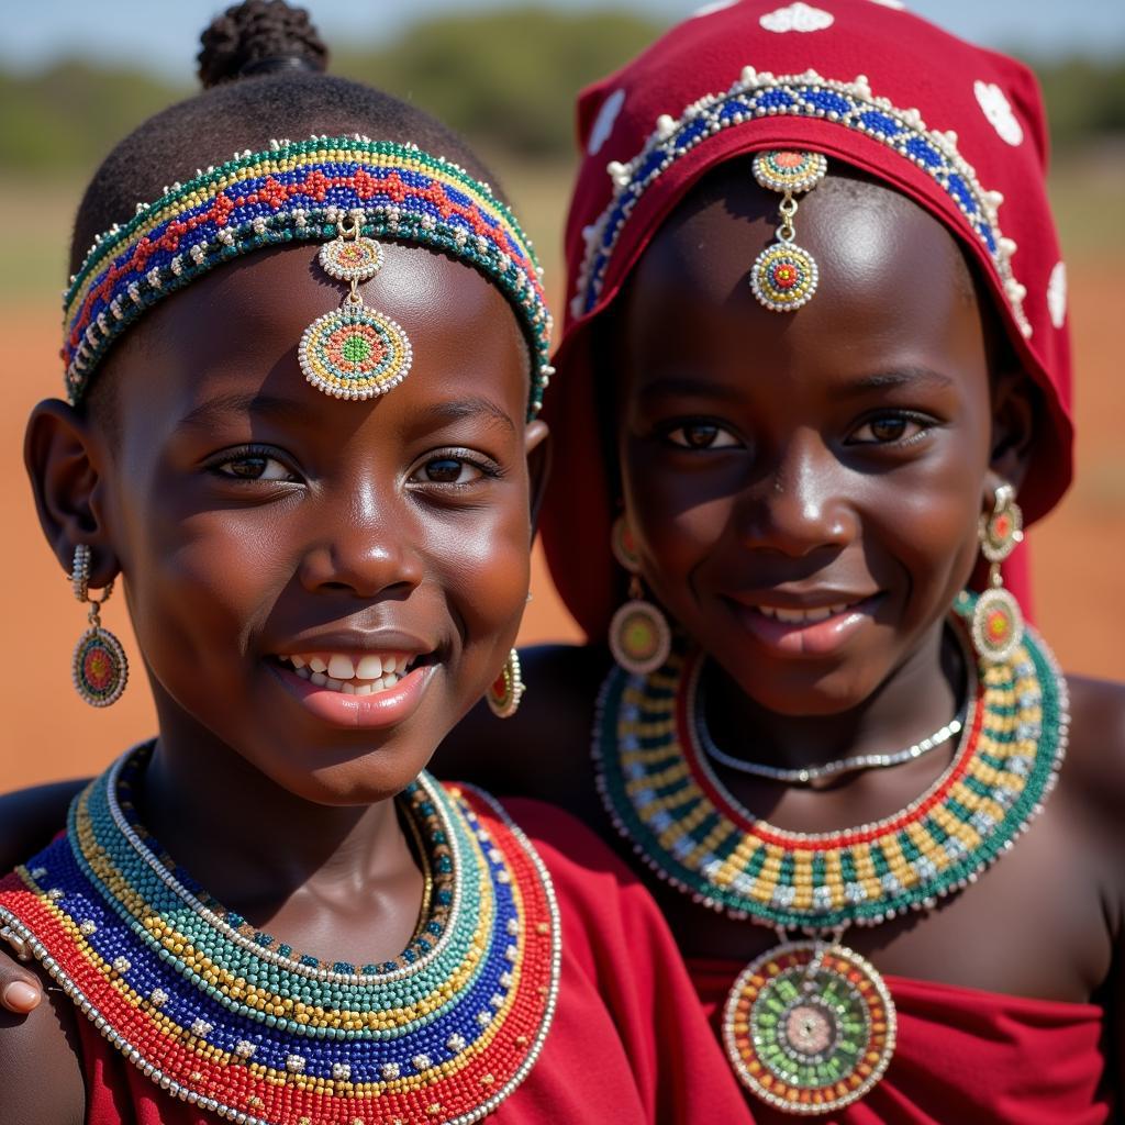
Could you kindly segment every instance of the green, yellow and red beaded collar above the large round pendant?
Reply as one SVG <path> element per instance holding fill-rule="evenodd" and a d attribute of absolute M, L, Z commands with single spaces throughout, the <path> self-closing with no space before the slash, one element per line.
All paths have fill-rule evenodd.
<path fill-rule="evenodd" d="M 972 605 L 965 595 L 956 606 L 962 640 Z M 775 928 L 874 926 L 963 888 L 1038 812 L 1065 752 L 1065 682 L 1028 630 L 1010 659 L 976 667 L 964 737 L 921 796 L 874 824 L 786 831 L 742 808 L 706 760 L 695 722 L 702 665 L 681 646 L 658 672 L 610 673 L 595 727 L 598 785 L 660 878 Z"/>

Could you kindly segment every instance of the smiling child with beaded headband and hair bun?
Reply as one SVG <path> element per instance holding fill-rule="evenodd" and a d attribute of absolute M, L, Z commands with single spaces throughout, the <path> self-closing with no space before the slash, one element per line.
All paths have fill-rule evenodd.
<path fill-rule="evenodd" d="M 91 593 L 124 578 L 160 731 L 0 880 L 0 963 L 57 986 L 0 1038 L 0 1119 L 737 1120 L 632 876 L 424 770 L 525 601 L 549 320 L 464 143 L 323 54 L 228 10 L 79 214 L 27 459 L 94 601 L 75 682 L 124 686 Z M 222 161 L 263 127 L 315 135 Z"/>

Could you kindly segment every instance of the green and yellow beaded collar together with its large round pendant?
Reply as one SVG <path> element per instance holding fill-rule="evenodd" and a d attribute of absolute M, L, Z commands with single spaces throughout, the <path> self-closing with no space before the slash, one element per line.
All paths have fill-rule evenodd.
<path fill-rule="evenodd" d="M 963 642 L 972 604 L 964 595 L 953 616 Z M 610 673 L 594 731 L 598 786 L 618 830 L 662 879 L 778 932 L 782 944 L 731 987 L 727 1052 L 772 1106 L 828 1113 L 882 1078 L 896 1037 L 885 982 L 840 934 L 932 908 L 1011 846 L 1065 752 L 1065 681 L 1028 630 L 1008 660 L 976 666 L 962 741 L 925 793 L 883 820 L 811 834 L 755 817 L 719 781 L 698 737 L 703 663 L 680 645 L 654 673 Z M 785 940 L 788 929 L 811 939 Z"/>

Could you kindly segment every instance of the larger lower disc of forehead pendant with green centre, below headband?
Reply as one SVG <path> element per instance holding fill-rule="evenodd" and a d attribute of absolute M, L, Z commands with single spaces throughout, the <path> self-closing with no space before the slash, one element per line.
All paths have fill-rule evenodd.
<path fill-rule="evenodd" d="M 334 398 L 386 394 L 406 378 L 414 358 L 399 324 L 350 299 L 305 328 L 297 357 L 305 378 Z"/>

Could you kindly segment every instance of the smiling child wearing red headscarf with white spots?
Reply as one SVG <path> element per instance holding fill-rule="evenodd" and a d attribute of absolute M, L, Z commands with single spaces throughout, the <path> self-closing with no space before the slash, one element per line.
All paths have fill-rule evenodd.
<path fill-rule="evenodd" d="M 1043 109 L 901 8 L 709 4 L 583 93 L 542 526 L 590 644 L 444 764 L 618 838 L 756 1120 L 1092 1125 L 1125 695 L 1023 620 L 1070 479 Z"/>

